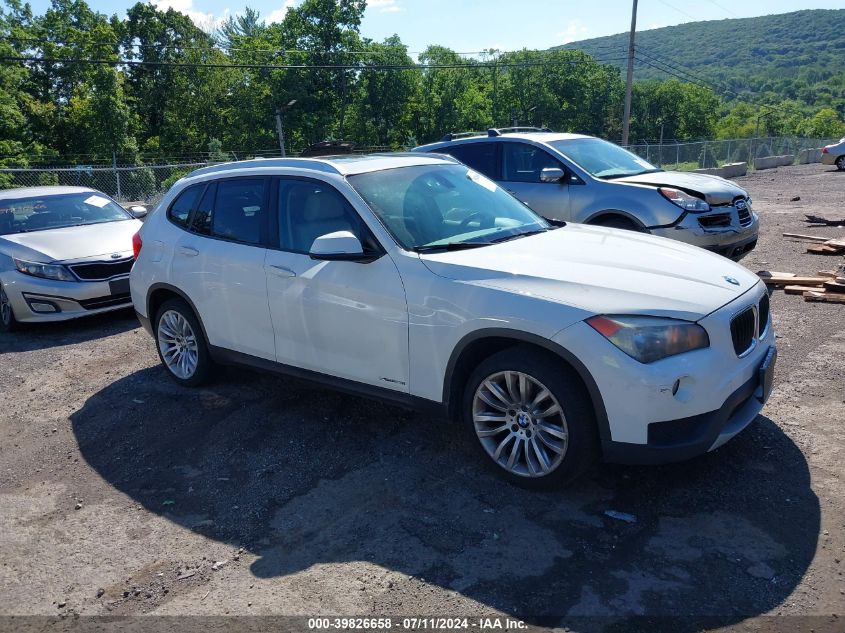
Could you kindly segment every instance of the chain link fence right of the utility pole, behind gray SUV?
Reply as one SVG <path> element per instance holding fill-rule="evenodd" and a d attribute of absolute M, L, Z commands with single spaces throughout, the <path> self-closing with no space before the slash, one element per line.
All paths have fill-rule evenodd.
<path fill-rule="evenodd" d="M 835 139 L 767 136 L 718 141 L 637 143 L 626 148 L 664 169 L 693 170 L 720 167 L 726 163 L 753 165 L 755 158 L 794 155 L 818 149 Z"/>

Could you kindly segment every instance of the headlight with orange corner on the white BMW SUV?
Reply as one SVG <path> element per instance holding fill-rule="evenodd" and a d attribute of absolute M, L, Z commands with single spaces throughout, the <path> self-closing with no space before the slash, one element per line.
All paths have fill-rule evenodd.
<path fill-rule="evenodd" d="M 697 323 L 647 316 L 594 316 L 587 323 L 620 350 L 641 363 L 710 346 L 707 330 Z"/>

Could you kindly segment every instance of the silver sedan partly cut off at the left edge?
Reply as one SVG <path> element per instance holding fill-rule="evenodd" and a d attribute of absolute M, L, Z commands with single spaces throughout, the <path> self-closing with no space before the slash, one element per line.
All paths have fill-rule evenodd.
<path fill-rule="evenodd" d="M 129 307 L 141 222 L 85 187 L 0 191 L 0 330 Z"/>

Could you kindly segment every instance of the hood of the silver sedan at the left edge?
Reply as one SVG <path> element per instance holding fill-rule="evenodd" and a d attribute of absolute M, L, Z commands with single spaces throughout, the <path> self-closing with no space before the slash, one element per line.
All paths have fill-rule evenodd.
<path fill-rule="evenodd" d="M 79 259 L 132 253 L 132 236 L 142 226 L 140 220 L 118 220 L 46 229 L 31 233 L 0 236 L 0 252 L 41 263 L 68 262 Z"/>

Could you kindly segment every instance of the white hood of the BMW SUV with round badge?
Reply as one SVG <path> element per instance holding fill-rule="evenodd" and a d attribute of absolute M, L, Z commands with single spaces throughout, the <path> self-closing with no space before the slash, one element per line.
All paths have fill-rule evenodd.
<path fill-rule="evenodd" d="M 760 283 L 746 268 L 709 251 L 586 224 L 420 258 L 441 277 L 539 296 L 596 314 L 690 321 Z"/>

